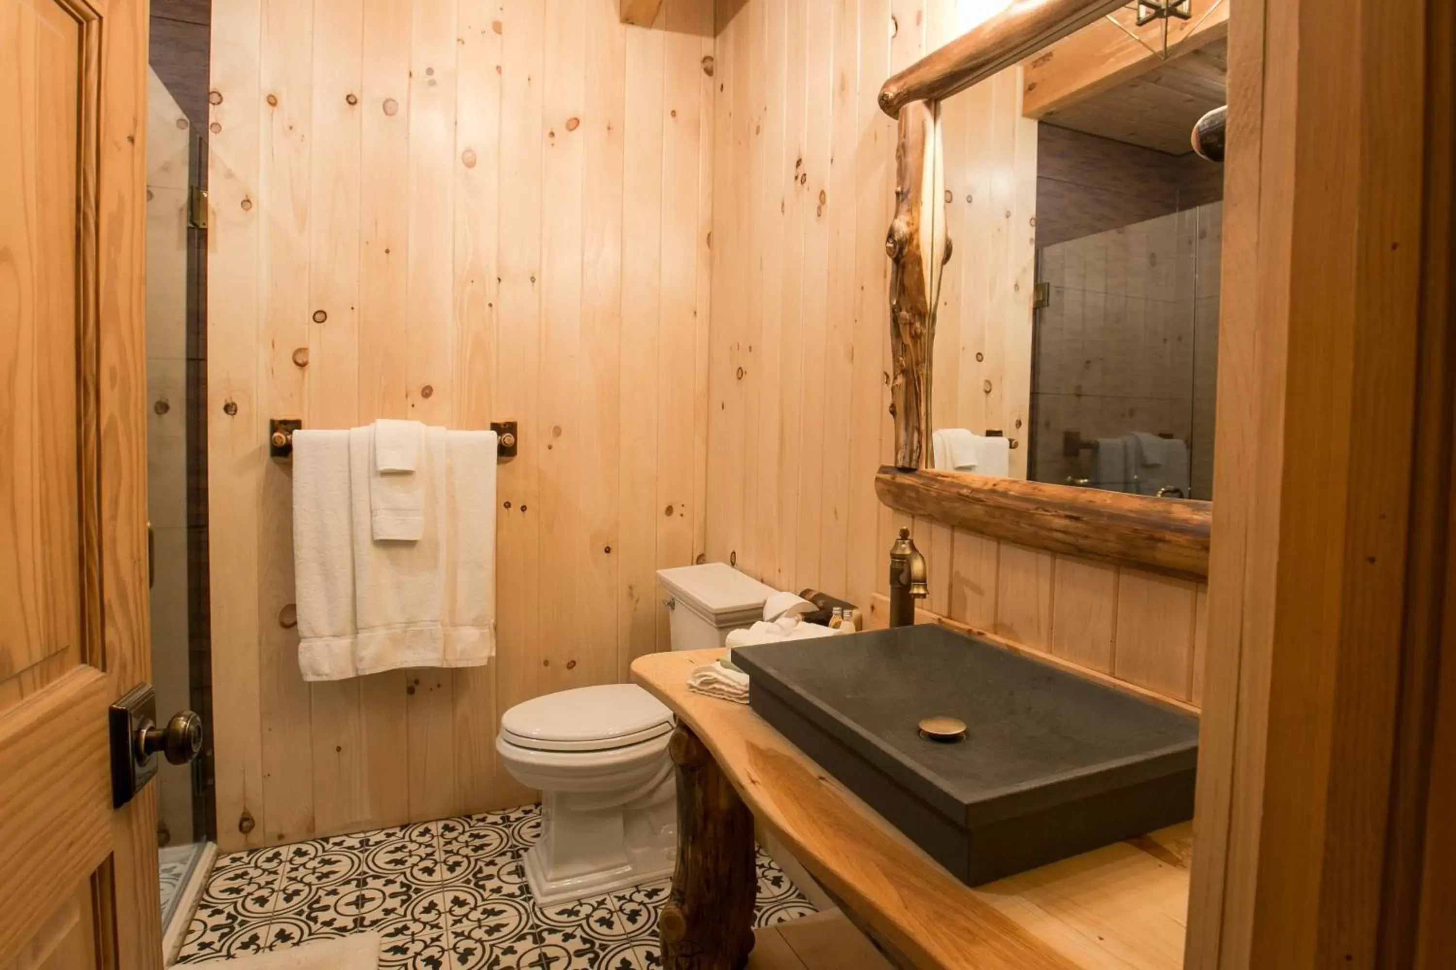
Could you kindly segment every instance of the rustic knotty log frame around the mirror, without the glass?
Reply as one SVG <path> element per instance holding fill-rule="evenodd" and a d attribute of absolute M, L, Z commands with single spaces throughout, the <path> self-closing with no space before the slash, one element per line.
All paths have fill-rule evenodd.
<path fill-rule="evenodd" d="M 1121 0 L 1016 0 L 885 81 L 879 108 L 900 124 L 891 260 L 890 345 L 894 465 L 879 470 L 879 500 L 907 515 L 994 538 L 1191 579 L 1208 573 L 1208 502 L 1099 492 L 926 468 L 930 358 L 946 237 L 939 102 L 1112 10 Z"/>

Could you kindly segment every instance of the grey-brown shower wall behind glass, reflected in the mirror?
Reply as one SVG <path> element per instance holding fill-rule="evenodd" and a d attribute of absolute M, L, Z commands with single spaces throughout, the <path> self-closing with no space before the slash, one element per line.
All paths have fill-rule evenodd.
<path fill-rule="evenodd" d="M 1213 202 L 1041 252 L 1032 478 L 1093 477 L 1091 452 L 1063 455 L 1067 430 L 1144 430 L 1187 441 L 1192 497 L 1211 497 L 1222 224 Z"/>

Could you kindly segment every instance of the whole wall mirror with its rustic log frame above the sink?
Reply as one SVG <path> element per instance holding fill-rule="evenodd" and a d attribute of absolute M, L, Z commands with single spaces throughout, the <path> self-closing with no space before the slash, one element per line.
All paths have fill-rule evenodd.
<path fill-rule="evenodd" d="M 1142 25 L 1136 6 L 1013 3 L 882 89 L 882 108 L 904 105 L 887 249 L 894 358 L 910 362 L 904 446 L 877 492 L 994 538 L 1201 577 L 1223 177 L 1190 134 L 1224 103 L 1230 0 Z M 1064 36 L 1037 47 L 1037 29 Z M 907 159 L 907 135 L 930 147 Z M 909 217 L 919 247 L 895 240 Z M 999 439 L 986 464 L 983 439 Z"/>

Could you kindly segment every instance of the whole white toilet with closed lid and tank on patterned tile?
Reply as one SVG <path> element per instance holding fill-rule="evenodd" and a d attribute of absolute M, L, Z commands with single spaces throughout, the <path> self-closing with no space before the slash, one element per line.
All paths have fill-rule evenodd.
<path fill-rule="evenodd" d="M 725 563 L 657 573 L 673 650 L 721 647 L 763 617 L 775 590 Z M 511 777 L 542 793 L 542 836 L 526 854 L 537 903 L 609 893 L 671 874 L 677 787 L 673 714 L 635 684 L 584 686 L 517 704 L 495 749 Z"/>

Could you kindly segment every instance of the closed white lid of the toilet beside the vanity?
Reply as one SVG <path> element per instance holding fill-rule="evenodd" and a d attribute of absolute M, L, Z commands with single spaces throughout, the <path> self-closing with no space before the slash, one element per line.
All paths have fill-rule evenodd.
<path fill-rule="evenodd" d="M 581 686 L 517 704 L 501 734 L 534 750 L 612 750 L 673 730 L 673 713 L 635 684 Z"/>

